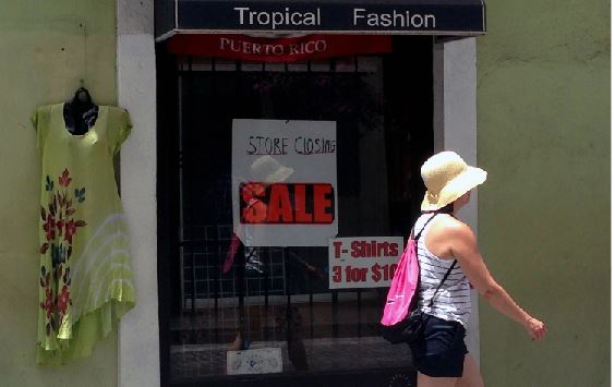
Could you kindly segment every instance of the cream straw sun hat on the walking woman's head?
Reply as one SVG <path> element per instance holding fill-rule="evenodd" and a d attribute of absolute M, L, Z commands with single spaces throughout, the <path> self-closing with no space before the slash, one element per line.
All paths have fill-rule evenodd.
<path fill-rule="evenodd" d="M 470 167 L 455 152 L 441 152 L 421 167 L 427 188 L 421 210 L 436 210 L 455 202 L 466 192 L 484 183 L 486 171 Z"/>

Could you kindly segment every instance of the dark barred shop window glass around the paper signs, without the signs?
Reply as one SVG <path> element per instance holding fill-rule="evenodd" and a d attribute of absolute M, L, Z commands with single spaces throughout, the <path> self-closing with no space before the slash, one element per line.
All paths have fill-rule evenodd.
<path fill-rule="evenodd" d="M 303 63 L 178 58 L 158 47 L 162 384 L 413 379 L 408 349 L 378 337 L 385 288 L 330 290 L 324 246 L 233 241 L 232 122 L 334 121 L 338 237 L 407 238 L 424 191 L 418 171 L 433 153 L 432 52 L 433 38 L 420 36 L 394 38 L 390 53 Z M 233 374 L 231 350 L 263 350 L 281 372 Z"/>

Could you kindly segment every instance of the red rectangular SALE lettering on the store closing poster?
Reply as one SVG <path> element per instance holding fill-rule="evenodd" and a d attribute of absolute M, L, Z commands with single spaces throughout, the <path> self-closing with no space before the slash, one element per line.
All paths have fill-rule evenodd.
<path fill-rule="evenodd" d="M 334 190 L 326 183 L 242 183 L 240 222 L 249 225 L 330 225 Z"/>

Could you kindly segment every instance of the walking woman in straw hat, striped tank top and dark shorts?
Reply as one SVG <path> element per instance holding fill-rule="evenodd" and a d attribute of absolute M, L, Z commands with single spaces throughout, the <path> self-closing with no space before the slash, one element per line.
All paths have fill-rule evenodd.
<path fill-rule="evenodd" d="M 419 371 L 418 386 L 482 387 L 482 376 L 463 342 L 470 317 L 471 286 L 491 306 L 519 323 L 532 340 L 542 339 L 546 326 L 519 307 L 493 279 L 474 232 L 455 217 L 470 201 L 470 190 L 486 180 L 486 172 L 469 167 L 454 152 L 442 152 L 423 164 L 421 176 L 427 190 L 414 230 L 424 228 L 418 251 L 419 307 L 423 312 L 425 331 L 423 338 L 411 346 Z"/>

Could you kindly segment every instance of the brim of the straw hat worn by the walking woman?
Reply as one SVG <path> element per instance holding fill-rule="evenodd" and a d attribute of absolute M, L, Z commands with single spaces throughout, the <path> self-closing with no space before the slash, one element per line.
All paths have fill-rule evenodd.
<path fill-rule="evenodd" d="M 463 173 L 450 180 L 442 189 L 439 195 L 434 196 L 425 192 L 425 196 L 421 203 L 421 210 L 430 211 L 441 209 L 461 197 L 466 192 L 484 183 L 486 176 L 486 171 L 481 168 L 468 167 Z"/>

